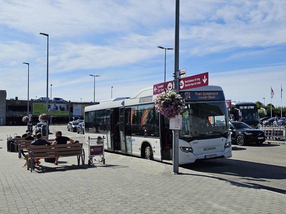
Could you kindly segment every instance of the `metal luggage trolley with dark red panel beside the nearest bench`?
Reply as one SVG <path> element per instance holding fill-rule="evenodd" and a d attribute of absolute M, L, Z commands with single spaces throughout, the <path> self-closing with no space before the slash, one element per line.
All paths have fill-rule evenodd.
<path fill-rule="evenodd" d="M 91 163 L 93 163 L 93 159 L 98 162 L 102 162 L 105 164 L 104 159 L 104 139 L 103 138 L 90 138 L 88 136 L 88 165 L 90 166 Z M 98 158 L 99 156 L 100 158 Z"/>

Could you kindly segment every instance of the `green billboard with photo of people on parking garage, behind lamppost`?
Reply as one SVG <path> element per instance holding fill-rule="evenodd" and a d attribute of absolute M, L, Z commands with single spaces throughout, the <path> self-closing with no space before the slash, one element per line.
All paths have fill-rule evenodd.
<path fill-rule="evenodd" d="M 46 112 L 46 103 L 33 103 L 33 115 L 40 115 Z M 48 110 L 51 110 L 52 115 L 69 115 L 68 104 L 48 104 Z M 50 113 L 49 113 L 50 114 Z"/>

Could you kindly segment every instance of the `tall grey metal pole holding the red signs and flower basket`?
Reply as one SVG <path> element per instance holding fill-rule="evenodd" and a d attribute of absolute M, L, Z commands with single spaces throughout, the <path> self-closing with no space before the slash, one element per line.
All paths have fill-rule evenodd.
<path fill-rule="evenodd" d="M 174 90 L 179 90 L 179 12 L 180 0 L 176 0 L 175 15 L 175 56 L 174 56 Z M 173 174 L 179 173 L 179 130 L 173 130 Z"/>

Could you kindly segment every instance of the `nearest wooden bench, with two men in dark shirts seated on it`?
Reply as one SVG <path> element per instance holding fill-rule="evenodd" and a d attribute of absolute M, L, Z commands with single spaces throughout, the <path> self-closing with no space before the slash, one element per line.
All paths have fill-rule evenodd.
<path fill-rule="evenodd" d="M 78 165 L 80 165 L 80 157 L 82 157 L 82 165 L 84 166 L 85 153 L 82 143 L 57 144 L 50 146 L 28 146 L 28 166 L 27 170 L 34 170 L 33 159 L 37 158 L 61 158 L 77 156 Z"/>

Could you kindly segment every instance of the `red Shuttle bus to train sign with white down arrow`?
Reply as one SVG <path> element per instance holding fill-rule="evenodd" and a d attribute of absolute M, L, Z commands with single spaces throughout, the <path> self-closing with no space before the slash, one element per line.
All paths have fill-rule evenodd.
<path fill-rule="evenodd" d="M 179 79 L 179 91 L 208 85 L 208 72 Z"/>

